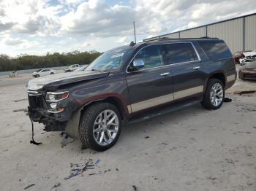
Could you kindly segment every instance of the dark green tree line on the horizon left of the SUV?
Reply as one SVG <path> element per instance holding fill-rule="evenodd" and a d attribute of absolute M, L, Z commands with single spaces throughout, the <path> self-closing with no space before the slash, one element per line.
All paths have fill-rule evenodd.
<path fill-rule="evenodd" d="M 94 61 L 101 52 L 67 52 L 46 55 L 18 55 L 12 58 L 8 55 L 0 55 L 0 71 L 16 71 L 26 69 L 40 69 L 56 66 L 69 66 L 72 64 L 89 64 Z"/>

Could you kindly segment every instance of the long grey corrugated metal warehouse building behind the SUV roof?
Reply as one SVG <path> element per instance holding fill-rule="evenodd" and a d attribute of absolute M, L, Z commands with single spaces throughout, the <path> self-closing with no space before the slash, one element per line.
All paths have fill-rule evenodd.
<path fill-rule="evenodd" d="M 217 37 L 225 40 L 231 52 L 255 50 L 256 49 L 256 13 L 211 23 L 205 26 L 189 28 L 170 34 L 144 39 L 144 42 L 161 39 L 163 37 L 179 38 L 198 38 L 198 37 Z"/>

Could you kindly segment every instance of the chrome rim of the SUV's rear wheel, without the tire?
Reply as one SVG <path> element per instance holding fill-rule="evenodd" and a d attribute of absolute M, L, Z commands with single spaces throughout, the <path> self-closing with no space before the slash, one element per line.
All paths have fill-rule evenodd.
<path fill-rule="evenodd" d="M 223 100 L 223 87 L 219 83 L 215 83 L 211 87 L 211 92 L 210 92 L 210 99 L 211 99 L 211 104 L 214 106 L 219 106 L 219 104 L 222 103 Z"/>

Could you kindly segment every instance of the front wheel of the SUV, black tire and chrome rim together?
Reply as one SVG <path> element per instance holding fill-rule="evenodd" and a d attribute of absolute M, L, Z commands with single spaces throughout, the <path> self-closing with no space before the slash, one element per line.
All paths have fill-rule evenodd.
<path fill-rule="evenodd" d="M 79 125 L 79 137 L 83 147 L 99 152 L 116 144 L 121 133 L 121 115 L 113 104 L 97 103 L 83 112 Z"/>

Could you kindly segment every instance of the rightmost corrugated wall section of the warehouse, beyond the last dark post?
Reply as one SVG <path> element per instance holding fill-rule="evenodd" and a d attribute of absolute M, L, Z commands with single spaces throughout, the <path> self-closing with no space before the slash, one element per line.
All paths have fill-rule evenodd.
<path fill-rule="evenodd" d="M 256 49 L 256 15 L 245 17 L 244 21 L 245 21 L 244 49 L 255 50 Z"/>

